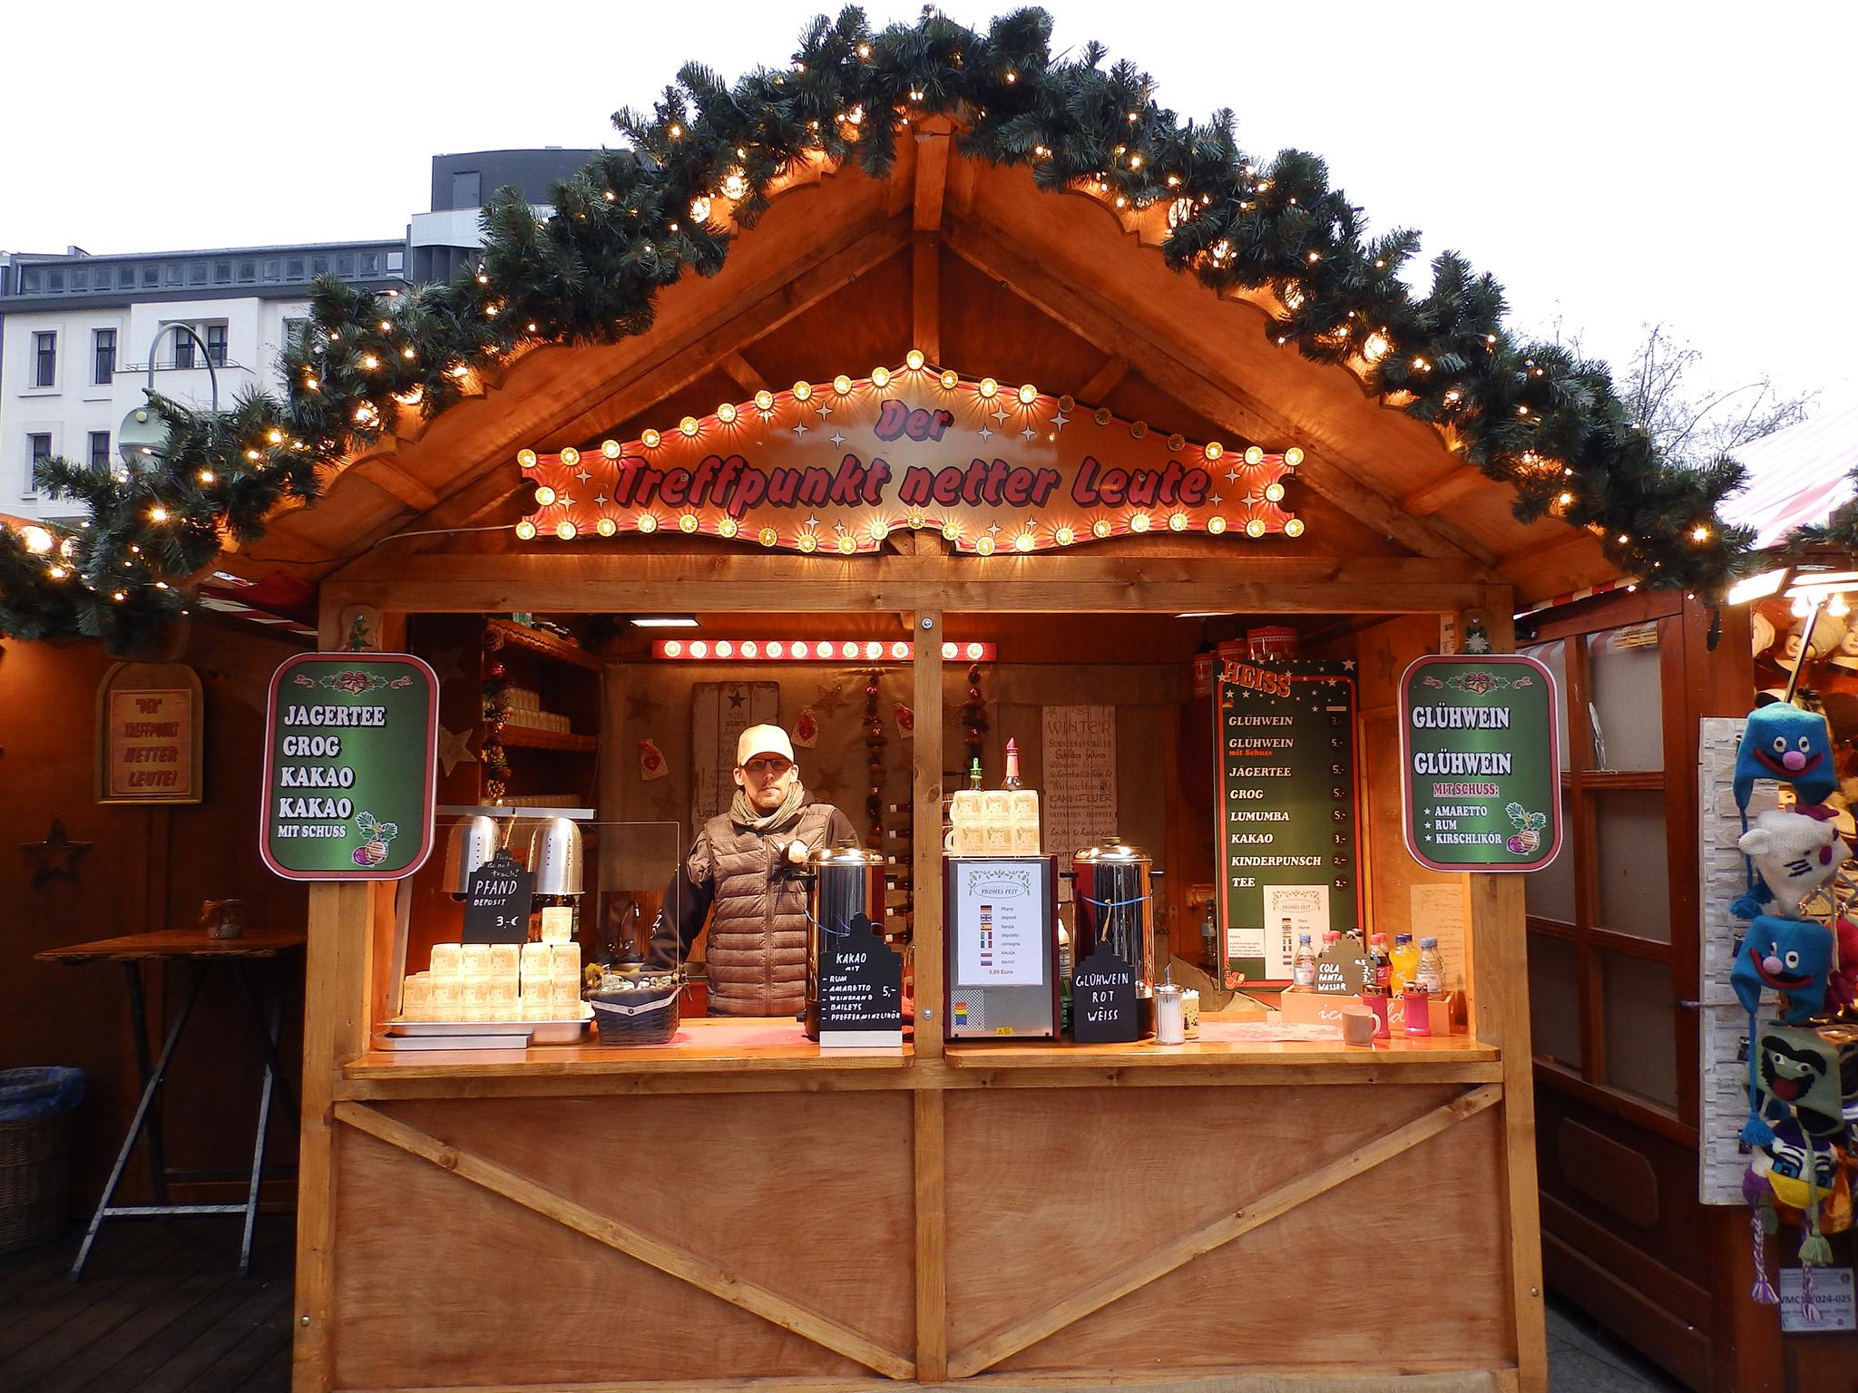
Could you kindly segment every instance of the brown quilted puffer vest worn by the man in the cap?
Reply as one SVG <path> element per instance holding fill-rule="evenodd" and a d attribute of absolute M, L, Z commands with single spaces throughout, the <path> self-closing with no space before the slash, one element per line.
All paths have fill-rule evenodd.
<path fill-rule="evenodd" d="M 795 838 L 823 847 L 831 802 L 805 804 L 767 832 L 736 827 L 728 815 L 704 825 L 715 903 L 710 910 L 712 1016 L 797 1016 L 806 1009 L 806 882 L 792 871 L 769 877 L 775 849 Z"/>

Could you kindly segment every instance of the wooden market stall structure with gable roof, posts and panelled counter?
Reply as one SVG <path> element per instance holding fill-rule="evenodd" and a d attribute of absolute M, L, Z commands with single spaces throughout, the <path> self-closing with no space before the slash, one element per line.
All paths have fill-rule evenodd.
<path fill-rule="evenodd" d="M 918 893 L 899 1049 L 697 1022 L 674 1048 L 390 1055 L 372 1036 L 399 970 L 394 890 L 316 884 L 299 1391 L 1546 1387 L 1522 884 L 1407 856 L 1394 687 L 1442 624 L 1475 620 L 1503 650 L 1524 602 L 1609 570 L 1587 531 L 1518 522 L 1507 488 L 1354 370 L 1269 342 L 1265 295 L 1171 271 L 1163 214 L 1040 193 L 959 156 L 936 123 L 888 178 L 814 162 L 717 275 L 663 292 L 650 332 L 533 347 L 474 379 L 349 462 L 320 507 L 277 518 L 266 561 L 227 566 L 288 550 L 320 583 L 323 648 L 357 611 L 379 615 L 383 646 L 427 656 L 474 652 L 479 617 L 513 613 L 684 611 L 749 637 L 797 615 L 832 639 L 907 626 L 914 659 L 886 702 L 916 713 L 897 786 L 916 886 L 940 884 L 942 793 L 962 765 L 944 639 L 1042 630 L 1048 661 L 1096 672 L 1135 661 L 1145 618 L 1288 622 L 1306 652 L 1360 663 L 1373 927 L 1405 929 L 1416 886 L 1466 906 L 1464 1031 L 1375 1049 L 949 1042 L 940 901 Z M 715 535 L 713 514 L 656 535 L 637 518 L 613 537 L 513 531 L 557 516 L 537 509 L 522 449 L 559 464 L 764 390 L 788 409 L 790 383 L 864 388 L 870 364 L 896 371 L 910 349 L 962 384 L 1035 383 L 1158 436 L 1297 448 L 1284 509 L 1301 526 L 1208 535 L 1197 514 L 1143 535 L 1119 514 L 1107 539 L 998 555 L 909 522 L 847 555 Z M 1093 618 L 1106 639 L 1085 657 Z M 621 771 L 645 732 L 626 696 L 663 678 L 635 646 L 574 652 L 576 670 L 598 656 L 604 689 L 572 698 L 582 743 L 548 754 L 546 778 L 585 778 L 602 819 L 639 817 Z M 448 685 L 463 693 L 448 736 L 476 719 L 476 676 Z M 1176 680 L 1113 698 L 1161 713 L 1169 784 L 1193 724 Z M 1210 853 L 1191 851 L 1189 819 L 1158 815 L 1182 866 Z"/>

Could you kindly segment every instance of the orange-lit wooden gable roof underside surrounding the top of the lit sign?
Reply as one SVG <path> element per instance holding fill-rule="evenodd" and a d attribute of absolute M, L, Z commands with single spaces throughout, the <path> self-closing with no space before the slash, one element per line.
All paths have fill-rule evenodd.
<path fill-rule="evenodd" d="M 266 539 L 221 565 L 321 579 L 381 574 L 405 552 L 517 550 L 507 531 L 450 529 L 522 514 L 518 449 L 663 427 L 760 386 L 862 373 L 922 347 L 940 366 L 1033 379 L 1197 438 L 1304 449 L 1302 539 L 1100 546 L 1429 557 L 1511 583 L 1524 602 L 1616 576 L 1589 531 L 1518 522 L 1509 487 L 1464 464 L 1440 429 L 1369 394 L 1356 371 L 1275 344 L 1267 292 L 1219 295 L 1174 273 L 1159 253 L 1161 210 L 1042 193 L 1022 169 L 962 158 L 949 134 L 946 121 L 927 123 L 883 180 L 803 165 L 738 232 L 717 275 L 687 275 L 660 295 L 650 332 L 537 345 L 429 422 L 407 412 L 398 435 L 333 474 L 318 507 L 275 514 Z M 637 539 L 522 550 L 539 546 L 559 557 L 654 550 Z"/>

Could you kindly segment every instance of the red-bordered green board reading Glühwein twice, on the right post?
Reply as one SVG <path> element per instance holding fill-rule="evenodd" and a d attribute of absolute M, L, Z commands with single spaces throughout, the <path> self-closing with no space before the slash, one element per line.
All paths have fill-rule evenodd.
<path fill-rule="evenodd" d="M 1538 871 L 1561 851 L 1555 678 L 1533 657 L 1421 657 L 1399 682 L 1407 851 L 1434 871 Z"/>

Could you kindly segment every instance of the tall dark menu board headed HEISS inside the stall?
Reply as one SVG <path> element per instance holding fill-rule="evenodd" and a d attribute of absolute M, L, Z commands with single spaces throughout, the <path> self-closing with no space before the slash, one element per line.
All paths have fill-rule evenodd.
<path fill-rule="evenodd" d="M 1224 983 L 1289 981 L 1297 938 L 1360 923 L 1353 661 L 1230 661 L 1219 736 Z"/>

